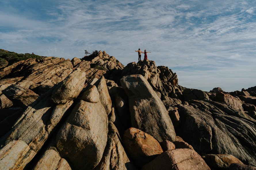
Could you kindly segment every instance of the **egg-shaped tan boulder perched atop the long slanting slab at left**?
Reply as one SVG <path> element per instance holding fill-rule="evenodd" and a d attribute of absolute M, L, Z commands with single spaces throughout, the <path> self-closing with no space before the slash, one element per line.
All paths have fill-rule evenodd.
<path fill-rule="evenodd" d="M 76 98 L 85 83 L 85 73 L 79 68 L 73 71 L 64 81 L 60 82 L 52 93 L 51 100 L 56 103 L 66 103 Z"/>

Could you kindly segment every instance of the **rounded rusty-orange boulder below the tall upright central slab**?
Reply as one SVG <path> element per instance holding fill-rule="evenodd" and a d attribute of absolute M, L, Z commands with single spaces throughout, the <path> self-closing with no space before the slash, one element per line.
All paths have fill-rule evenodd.
<path fill-rule="evenodd" d="M 163 153 L 156 139 L 136 128 L 125 130 L 123 142 L 127 152 L 139 167 Z"/>

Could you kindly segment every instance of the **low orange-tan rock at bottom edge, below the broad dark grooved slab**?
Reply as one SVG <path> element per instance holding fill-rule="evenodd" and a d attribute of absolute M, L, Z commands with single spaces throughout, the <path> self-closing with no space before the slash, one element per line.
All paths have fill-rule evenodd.
<path fill-rule="evenodd" d="M 232 163 L 243 164 L 239 159 L 228 154 L 207 154 L 203 159 L 209 167 L 217 169 L 228 169 Z"/>

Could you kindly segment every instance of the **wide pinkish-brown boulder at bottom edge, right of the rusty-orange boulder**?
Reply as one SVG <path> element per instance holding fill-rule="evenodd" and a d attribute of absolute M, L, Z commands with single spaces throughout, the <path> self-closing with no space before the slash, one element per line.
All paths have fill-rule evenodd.
<path fill-rule="evenodd" d="M 196 151 L 186 148 L 163 152 L 142 170 L 210 170 Z"/>

